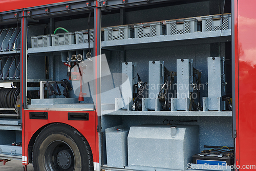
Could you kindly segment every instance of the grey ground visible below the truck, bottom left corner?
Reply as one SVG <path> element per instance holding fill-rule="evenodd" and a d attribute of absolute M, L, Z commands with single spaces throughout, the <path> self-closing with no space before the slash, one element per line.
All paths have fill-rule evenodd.
<path fill-rule="evenodd" d="M 5 163 L 0 162 L 0 171 L 23 171 L 23 164 L 21 160 L 11 160 Z M 34 171 L 33 165 L 29 164 L 27 166 L 27 171 Z"/>

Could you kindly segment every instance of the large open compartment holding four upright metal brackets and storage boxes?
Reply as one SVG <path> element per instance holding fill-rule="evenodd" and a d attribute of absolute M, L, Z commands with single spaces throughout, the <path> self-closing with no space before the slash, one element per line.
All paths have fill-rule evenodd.
<path fill-rule="evenodd" d="M 176 29 L 181 30 L 189 27 L 189 22 L 184 22 L 183 24 L 179 23 L 179 21 L 195 21 L 195 24 L 191 25 L 193 28 L 190 28 L 193 32 L 185 34 L 183 32 L 179 34 L 179 31 L 176 30 L 174 31 L 176 34 L 173 35 L 164 33 L 152 37 L 142 36 L 141 38 L 135 37 L 101 42 L 101 54 L 106 51 L 111 54 L 107 61 L 112 75 L 112 81 L 102 80 L 102 91 L 108 86 L 116 89 L 112 92 L 102 92 L 101 97 L 103 131 L 101 155 L 103 155 L 103 169 L 184 170 L 189 166 L 190 168 L 192 166 L 196 168 L 204 163 L 207 164 L 209 159 L 203 160 L 203 164 L 202 162 L 197 164 L 193 163 L 193 155 L 217 148 L 217 146 L 219 149 L 226 148 L 223 146 L 230 148 L 231 160 L 234 160 L 232 151 L 234 148 L 232 104 L 230 102 L 232 98 L 231 29 L 230 27 L 228 29 L 224 27 L 221 31 L 220 29 L 210 32 L 202 31 L 202 18 L 207 18 L 207 16 L 217 18 L 215 16 L 222 15 L 223 3 L 224 1 L 189 3 L 180 1 L 179 4 L 149 5 L 142 9 L 124 8 L 119 11 L 114 7 L 113 9 L 109 7 L 112 9 L 111 12 L 102 10 L 103 28 L 129 26 L 133 29 L 138 25 L 150 26 L 150 23 L 159 22 L 164 23 L 164 27 L 166 27 L 166 24 L 170 25 L 172 23 L 170 21 L 176 21 L 177 25 L 179 25 Z M 224 17 L 230 16 L 230 9 L 231 2 L 228 1 L 225 4 Z M 110 19 L 117 16 L 117 14 L 121 15 L 120 20 Z M 225 20 L 226 25 L 231 26 L 230 18 Z M 102 72 L 104 71 L 102 70 Z M 166 82 L 166 75 L 170 77 L 168 83 Z M 135 84 L 134 79 L 136 80 Z M 125 83 L 125 81 L 130 82 Z M 146 84 L 143 85 L 143 83 Z M 164 97 L 165 83 L 172 84 L 169 85 L 167 97 L 165 96 L 163 100 L 161 98 Z M 143 89 L 144 86 L 146 86 L 145 89 Z M 162 88 L 163 90 L 160 91 Z M 139 100 L 136 101 L 135 99 L 142 89 L 143 93 L 138 98 Z M 200 89 L 200 93 L 197 92 L 197 89 Z M 154 95 L 151 96 L 151 92 L 154 92 Z M 186 96 L 182 96 L 182 93 L 185 93 Z M 192 95 L 197 95 L 192 97 L 195 104 L 191 103 Z M 200 95 L 199 98 L 198 95 Z M 115 108 L 104 109 L 108 104 L 115 105 Z M 186 156 L 188 150 L 184 152 L 177 148 L 178 150 L 176 149 L 175 152 L 172 151 L 177 159 L 173 159 L 167 154 L 163 155 L 161 149 L 171 149 L 173 145 L 175 146 L 175 143 L 171 142 L 169 146 L 166 146 L 163 141 L 160 141 L 161 135 L 165 135 L 163 137 L 166 139 L 173 140 L 175 138 L 165 134 L 166 131 L 164 129 L 160 129 L 158 134 L 154 135 L 154 129 L 150 131 L 147 127 L 143 127 L 144 124 L 159 127 L 159 129 L 161 127 L 172 129 L 172 127 L 176 126 L 197 125 L 199 130 L 197 134 L 193 133 L 193 138 L 197 137 L 198 144 L 190 146 L 190 148 L 197 149 L 192 152 L 195 154 Z M 135 128 L 140 129 L 136 129 L 136 132 Z M 131 133 L 131 129 L 133 129 L 133 133 Z M 177 132 L 181 131 L 179 128 L 175 129 L 178 130 Z M 112 136 L 105 136 L 105 134 L 109 134 L 108 130 L 113 131 Z M 123 130 L 130 130 L 129 134 L 126 135 L 126 138 L 122 137 L 118 140 L 117 136 L 121 136 L 120 133 Z M 131 140 L 129 141 L 129 138 L 132 137 L 137 137 L 136 143 L 135 141 L 133 143 Z M 146 141 L 143 141 L 142 137 L 151 141 L 152 144 L 148 145 Z M 185 135 L 185 138 L 188 138 L 187 135 Z M 113 153 L 108 151 L 114 145 L 110 144 L 113 140 L 119 145 L 116 149 L 118 151 L 117 154 L 121 156 L 118 158 L 119 160 L 115 159 Z M 187 143 L 191 142 L 187 141 Z M 128 147 L 128 150 L 125 150 L 120 144 L 127 145 L 126 148 Z M 147 147 L 152 151 L 148 150 Z M 137 150 L 132 151 L 131 149 Z M 139 151 L 138 149 L 144 149 L 144 151 Z M 229 151 L 227 148 L 225 150 Z M 136 151 L 139 151 L 138 154 L 136 154 Z M 181 161 L 178 158 L 180 159 L 180 156 L 183 155 L 188 158 L 187 160 L 184 158 L 184 165 L 180 166 Z M 123 160 L 121 161 L 121 159 Z M 127 159 L 126 162 L 125 159 Z M 152 162 L 148 163 L 147 159 Z M 163 168 L 164 164 L 159 165 L 161 161 L 163 163 L 174 162 L 176 164 L 165 165 Z M 113 164 L 115 162 L 117 163 L 116 165 Z M 227 167 L 227 170 L 231 170 L 231 168 Z"/>

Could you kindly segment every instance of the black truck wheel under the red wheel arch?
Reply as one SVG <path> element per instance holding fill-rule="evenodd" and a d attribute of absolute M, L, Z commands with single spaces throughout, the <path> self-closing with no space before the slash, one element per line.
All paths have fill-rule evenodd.
<path fill-rule="evenodd" d="M 35 171 L 93 171 L 90 145 L 77 130 L 65 124 L 51 124 L 37 136 L 33 152 Z"/>

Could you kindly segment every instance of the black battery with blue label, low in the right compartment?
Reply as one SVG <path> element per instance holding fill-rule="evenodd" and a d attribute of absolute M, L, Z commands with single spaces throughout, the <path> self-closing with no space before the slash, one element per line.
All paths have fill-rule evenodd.
<path fill-rule="evenodd" d="M 195 164 L 210 164 L 210 165 L 233 165 L 234 155 L 222 155 L 222 154 L 197 154 L 193 155 L 193 163 Z"/>

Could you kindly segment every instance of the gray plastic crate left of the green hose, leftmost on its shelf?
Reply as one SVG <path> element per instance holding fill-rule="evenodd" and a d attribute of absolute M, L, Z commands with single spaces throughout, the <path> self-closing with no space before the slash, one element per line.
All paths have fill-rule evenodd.
<path fill-rule="evenodd" d="M 51 45 L 51 35 L 41 35 L 31 37 L 31 48 L 48 47 Z"/>

